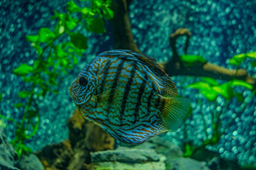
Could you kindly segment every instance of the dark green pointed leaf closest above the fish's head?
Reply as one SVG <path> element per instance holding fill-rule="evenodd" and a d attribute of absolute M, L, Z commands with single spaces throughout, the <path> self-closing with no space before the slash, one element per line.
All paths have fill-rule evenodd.
<path fill-rule="evenodd" d="M 87 38 L 81 33 L 69 33 L 70 41 L 79 49 L 88 49 Z"/>

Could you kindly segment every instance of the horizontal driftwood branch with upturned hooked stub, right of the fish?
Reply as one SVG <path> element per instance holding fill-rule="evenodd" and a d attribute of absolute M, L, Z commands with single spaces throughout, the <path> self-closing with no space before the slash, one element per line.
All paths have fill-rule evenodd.
<path fill-rule="evenodd" d="M 189 38 L 191 33 L 188 29 L 177 29 L 175 33 L 170 35 L 170 44 L 173 50 L 172 60 L 169 62 L 161 63 L 162 68 L 166 71 L 170 76 L 172 75 L 194 75 L 194 76 L 204 76 L 204 77 L 212 77 L 214 79 L 224 79 L 224 80 L 232 80 L 232 79 L 240 79 L 249 84 L 256 85 L 256 80 L 254 77 L 248 75 L 245 69 L 228 69 L 225 67 L 218 66 L 216 64 L 211 64 L 209 62 L 200 63 L 195 62 L 192 66 L 184 66 L 180 61 L 179 56 L 177 54 L 176 49 L 176 40 L 179 36 L 186 36 L 186 46 L 185 53 L 189 46 Z"/>

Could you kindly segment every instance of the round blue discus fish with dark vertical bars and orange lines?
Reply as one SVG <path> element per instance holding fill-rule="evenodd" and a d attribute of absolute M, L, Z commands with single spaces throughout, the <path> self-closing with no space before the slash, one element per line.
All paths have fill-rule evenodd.
<path fill-rule="evenodd" d="M 126 144 L 177 130 L 190 106 L 153 58 L 130 50 L 99 54 L 69 92 L 85 119 Z"/>

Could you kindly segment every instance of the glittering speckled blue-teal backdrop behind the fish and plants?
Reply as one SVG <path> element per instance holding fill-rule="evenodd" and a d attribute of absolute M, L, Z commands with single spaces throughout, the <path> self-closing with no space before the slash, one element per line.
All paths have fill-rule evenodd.
<path fill-rule="evenodd" d="M 18 93 L 29 89 L 29 85 L 22 82 L 21 77 L 13 74 L 13 70 L 22 63 L 34 64 L 36 51 L 26 42 L 26 35 L 35 35 L 42 27 L 54 29 L 55 21 L 50 19 L 54 10 L 65 11 L 64 1 L 8 1 L 0 2 L 0 103 L 1 115 L 21 121 L 22 110 L 13 107 L 16 103 L 24 102 L 18 98 Z M 240 53 L 256 51 L 256 13 L 254 0 L 190 0 L 166 1 L 149 0 L 133 1 L 130 4 L 130 23 L 135 42 L 139 50 L 157 62 L 167 61 L 173 52 L 169 49 L 168 36 L 177 28 L 186 27 L 192 33 L 188 53 L 202 55 L 205 60 L 234 68 L 229 65 L 229 58 Z M 58 84 L 59 94 L 46 94 L 40 102 L 40 124 L 37 133 L 27 141 L 27 146 L 33 150 L 53 142 L 62 141 L 68 136 L 66 120 L 75 106 L 68 94 L 70 83 L 81 68 L 97 54 L 112 49 L 112 30 L 107 24 L 106 33 L 94 35 L 85 33 L 88 37 L 88 49 L 83 54 L 77 67 Z M 182 54 L 185 39 L 177 41 L 178 53 Z M 250 75 L 256 72 L 251 62 L 246 60 L 240 67 L 247 69 Z M 221 77 L 220 77 L 221 78 Z M 58 77 L 56 77 L 58 79 Z M 209 150 L 219 152 L 222 157 L 237 158 L 241 164 L 255 164 L 256 162 L 256 98 L 251 97 L 252 91 L 238 88 L 247 104 L 240 110 L 241 103 L 232 98 L 226 105 L 225 98 L 218 96 L 216 102 L 208 102 L 203 95 L 192 88 L 184 88 L 200 82 L 200 78 L 173 76 L 180 95 L 191 99 L 193 115 L 186 119 L 185 127 L 177 132 L 168 132 L 163 137 L 176 144 L 184 139 L 200 144 L 211 136 L 211 110 L 222 114 L 222 121 L 235 119 L 221 135 L 217 146 L 208 146 Z M 222 84 L 222 80 L 216 83 Z M 211 83 L 209 83 L 212 85 Z M 35 89 L 36 90 L 36 89 Z M 251 99 L 251 100 L 250 100 Z M 246 103 L 245 102 L 245 103 Z M 241 113 L 239 116 L 236 113 Z M 204 119 L 202 120 L 202 115 Z M 6 122 L 7 123 L 7 122 Z M 206 127 L 206 128 L 205 128 Z M 8 122 L 7 136 L 14 137 L 16 125 Z M 186 130 L 186 131 L 184 131 Z M 223 130 L 223 129 L 222 129 Z"/>

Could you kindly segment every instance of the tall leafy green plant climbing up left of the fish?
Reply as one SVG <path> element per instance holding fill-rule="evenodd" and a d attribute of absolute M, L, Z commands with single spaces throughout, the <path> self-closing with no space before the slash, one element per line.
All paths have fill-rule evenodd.
<path fill-rule="evenodd" d="M 38 53 L 34 64 L 23 63 L 13 70 L 17 76 L 21 76 L 23 81 L 29 84 L 29 90 L 22 90 L 18 97 L 22 102 L 14 107 L 24 113 L 21 122 L 11 117 L 0 115 L 0 118 L 12 121 L 16 126 L 15 139 L 11 144 L 18 152 L 18 157 L 22 153 L 31 152 L 31 148 L 25 145 L 25 140 L 33 137 L 39 128 L 39 106 L 46 94 L 58 94 L 57 78 L 64 78 L 67 70 L 72 69 L 78 63 L 77 57 L 88 48 L 87 37 L 81 32 L 83 29 L 94 33 L 104 33 L 105 19 L 111 19 L 114 15 L 110 9 L 112 0 L 85 0 L 90 7 L 79 7 L 74 1 L 67 2 L 67 13 L 58 13 L 52 20 L 57 20 L 54 31 L 49 28 L 41 28 L 37 35 L 27 35 L 27 42 L 31 42 L 32 48 Z M 90 1 L 90 2 L 89 2 Z M 81 26 L 78 31 L 77 27 Z M 60 42 L 63 38 L 70 41 Z M 61 39 L 62 38 L 62 39 Z M 58 41 L 58 42 L 57 42 Z M 1 95 L 2 97 L 2 95 Z"/>

